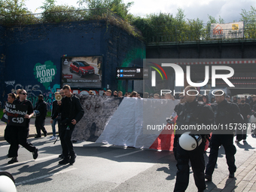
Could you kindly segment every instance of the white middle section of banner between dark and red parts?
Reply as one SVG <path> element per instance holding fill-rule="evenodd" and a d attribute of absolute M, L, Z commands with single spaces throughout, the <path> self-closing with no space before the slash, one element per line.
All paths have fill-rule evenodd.
<path fill-rule="evenodd" d="M 96 142 L 150 148 L 162 130 L 145 131 L 147 127 L 145 126 L 147 122 L 144 122 L 145 117 L 154 116 L 151 119 L 158 119 L 154 123 L 166 124 L 166 117 L 172 115 L 173 109 L 178 102 L 178 100 L 168 99 L 124 98 Z"/>

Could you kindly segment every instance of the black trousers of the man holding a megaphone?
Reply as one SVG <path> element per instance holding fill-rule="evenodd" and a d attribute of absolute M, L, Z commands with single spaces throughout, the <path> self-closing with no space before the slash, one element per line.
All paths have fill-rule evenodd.
<path fill-rule="evenodd" d="M 59 139 L 62 147 L 62 154 L 64 158 L 75 155 L 75 151 L 72 143 L 72 133 L 75 129 L 75 125 L 60 125 L 59 129 Z"/>

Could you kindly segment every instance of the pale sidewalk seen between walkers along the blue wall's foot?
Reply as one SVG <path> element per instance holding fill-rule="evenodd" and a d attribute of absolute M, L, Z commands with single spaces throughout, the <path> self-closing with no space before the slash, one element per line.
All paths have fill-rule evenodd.
<path fill-rule="evenodd" d="M 5 140 L 4 139 L 4 134 L 5 134 L 5 126 L 6 123 L 2 122 L 0 120 L 0 141 Z M 53 135 L 53 130 L 51 128 L 51 124 L 50 124 L 50 117 L 46 117 L 45 121 L 44 121 L 44 127 L 45 130 L 47 130 L 47 135 Z M 58 123 L 56 123 L 56 133 L 58 133 Z M 29 137 L 34 137 L 36 135 L 36 130 L 35 130 L 35 117 L 32 117 L 30 119 L 30 123 L 29 123 Z M 42 133 L 42 136 L 44 136 L 44 134 Z"/>

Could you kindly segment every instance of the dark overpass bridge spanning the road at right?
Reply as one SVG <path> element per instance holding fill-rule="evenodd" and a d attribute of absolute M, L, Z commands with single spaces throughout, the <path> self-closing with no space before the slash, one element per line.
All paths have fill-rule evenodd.
<path fill-rule="evenodd" d="M 146 47 L 146 58 L 181 60 L 178 65 L 184 70 L 186 66 L 190 66 L 192 82 L 204 81 L 204 66 L 209 66 L 210 69 L 212 66 L 230 66 L 234 70 L 234 75 L 228 80 L 235 87 L 228 87 L 223 80 L 217 79 L 216 88 L 228 87 L 232 96 L 242 93 L 256 94 L 256 39 L 151 41 Z M 221 74 L 225 73 L 227 72 L 221 71 Z M 172 90 L 174 77 L 170 79 L 172 82 L 169 88 Z M 212 88 L 211 82 L 210 79 L 209 88 Z"/>

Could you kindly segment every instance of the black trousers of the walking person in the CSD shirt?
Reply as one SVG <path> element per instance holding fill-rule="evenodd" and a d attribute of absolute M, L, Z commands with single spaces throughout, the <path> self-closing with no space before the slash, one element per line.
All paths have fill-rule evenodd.
<path fill-rule="evenodd" d="M 19 144 L 30 152 L 35 151 L 35 146 L 27 141 L 29 127 L 11 126 L 11 133 L 11 146 L 9 148 L 8 157 L 18 157 Z"/>

